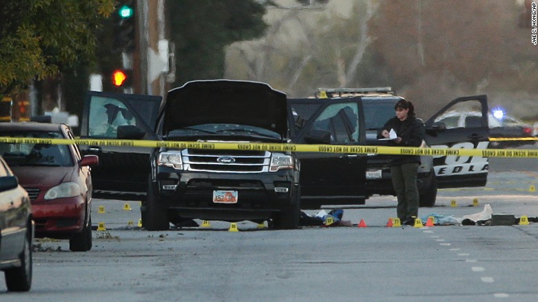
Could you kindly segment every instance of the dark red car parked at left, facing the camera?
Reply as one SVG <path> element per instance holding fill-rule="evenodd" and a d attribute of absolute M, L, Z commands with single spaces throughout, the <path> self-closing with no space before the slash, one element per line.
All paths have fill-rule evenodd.
<path fill-rule="evenodd" d="M 53 123 L 0 123 L 0 137 L 74 139 L 71 129 Z M 96 155 L 81 157 L 77 145 L 0 143 L 6 160 L 32 203 L 35 236 L 69 239 L 69 249 L 92 248 L 92 178 Z"/>

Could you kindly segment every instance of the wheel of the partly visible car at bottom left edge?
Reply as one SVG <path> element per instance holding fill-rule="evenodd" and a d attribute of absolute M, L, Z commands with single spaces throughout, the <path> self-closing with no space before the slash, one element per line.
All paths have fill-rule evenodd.
<path fill-rule="evenodd" d="M 6 286 L 10 292 L 28 292 L 32 286 L 32 236 L 28 229 L 25 236 L 23 251 L 21 252 L 21 266 L 11 268 L 4 272 L 6 276 Z"/>

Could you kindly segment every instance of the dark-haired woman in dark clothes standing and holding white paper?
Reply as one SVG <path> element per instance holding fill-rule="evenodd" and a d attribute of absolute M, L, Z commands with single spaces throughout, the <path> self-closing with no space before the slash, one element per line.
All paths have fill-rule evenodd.
<path fill-rule="evenodd" d="M 419 147 L 424 139 L 424 125 L 415 117 L 415 107 L 410 101 L 399 100 L 394 106 L 396 116 L 389 119 L 379 130 L 377 137 L 388 138 L 390 130 L 397 134 L 389 145 Z M 392 185 L 398 199 L 397 215 L 405 225 L 414 225 L 419 215 L 419 189 L 417 173 L 419 155 L 395 155 L 390 162 Z"/>

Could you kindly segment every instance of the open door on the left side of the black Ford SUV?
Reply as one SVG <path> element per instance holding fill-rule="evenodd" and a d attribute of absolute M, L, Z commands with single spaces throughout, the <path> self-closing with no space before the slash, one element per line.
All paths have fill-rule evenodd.
<path fill-rule="evenodd" d="M 90 91 L 84 101 L 81 139 L 157 140 L 161 97 Z M 99 156 L 92 168 L 93 196 L 119 200 L 146 198 L 152 148 L 80 145 Z"/>

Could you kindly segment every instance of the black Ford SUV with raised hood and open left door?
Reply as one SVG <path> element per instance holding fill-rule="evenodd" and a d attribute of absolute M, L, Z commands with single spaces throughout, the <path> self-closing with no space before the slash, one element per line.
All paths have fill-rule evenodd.
<path fill-rule="evenodd" d="M 126 163 L 137 155 L 142 156 L 143 150 L 137 152 L 132 148 L 121 152 L 130 154 L 117 158 L 117 164 L 123 165 L 119 169 L 132 172 L 138 168 L 138 177 L 131 173 L 124 179 L 118 178 L 124 172 L 114 174 L 110 167 L 103 169 L 108 175 L 96 171 L 95 175 L 115 180 L 117 191 L 136 188 L 134 181 L 139 181 L 138 190 L 132 190 L 130 196 L 140 193 L 140 188 L 146 189 L 141 206 L 146 230 L 168 230 L 170 222 L 180 223 L 183 219 L 270 220 L 278 229 L 298 227 L 299 164 L 295 154 L 248 148 L 197 148 L 223 142 L 288 142 L 286 94 L 265 83 L 192 81 L 170 90 L 166 101 L 159 101 L 157 119 L 144 111 L 153 112 L 155 107 L 149 106 L 141 96 L 92 92 L 86 107 L 88 114 L 81 128 L 82 137 L 92 134 L 93 138 L 150 139 L 154 134 L 146 131 L 152 127 L 147 121 L 155 121 L 157 139 L 192 142 L 179 148 L 149 150 L 146 160 L 150 167 Z M 100 111 L 106 114 L 99 114 Z M 104 125 L 97 123 L 99 117 Z M 99 154 L 101 163 L 112 163 L 112 157 L 119 155 L 108 147 L 88 146 L 86 150 Z M 141 185 L 145 169 L 146 183 Z M 97 184 L 97 190 L 114 188 L 110 183 L 103 183 L 102 188 Z M 113 190 L 101 193 L 114 195 Z M 117 194 L 117 197 L 126 195 Z"/>

